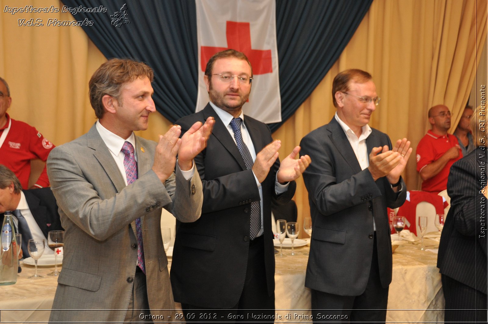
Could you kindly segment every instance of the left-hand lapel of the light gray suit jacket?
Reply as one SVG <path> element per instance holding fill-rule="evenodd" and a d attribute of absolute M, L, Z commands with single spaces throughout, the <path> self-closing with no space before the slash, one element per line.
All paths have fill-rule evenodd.
<path fill-rule="evenodd" d="M 117 189 L 117 192 L 121 192 L 125 187 L 125 182 L 123 181 L 121 172 L 117 167 L 112 154 L 110 154 L 108 147 L 100 137 L 95 125 L 93 125 L 87 133 L 87 146 L 94 150 L 93 155 L 102 165 L 107 176 Z"/>

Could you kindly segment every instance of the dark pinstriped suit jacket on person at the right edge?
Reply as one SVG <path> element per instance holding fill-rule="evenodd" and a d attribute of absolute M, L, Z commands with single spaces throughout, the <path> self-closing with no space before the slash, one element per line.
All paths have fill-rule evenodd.
<path fill-rule="evenodd" d="M 437 267 L 447 277 L 487 293 L 487 150 L 478 147 L 449 171 L 451 207 L 442 230 Z"/>

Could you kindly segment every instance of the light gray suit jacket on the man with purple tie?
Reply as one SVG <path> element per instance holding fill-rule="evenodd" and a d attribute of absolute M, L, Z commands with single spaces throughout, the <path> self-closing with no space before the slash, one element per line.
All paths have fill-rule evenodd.
<path fill-rule="evenodd" d="M 182 222 L 197 220 L 202 182 L 198 173 L 186 181 L 177 168 L 176 177 L 173 174 L 163 184 L 151 169 L 155 147 L 155 142 L 136 136 L 139 179 L 127 186 L 95 125 L 51 151 L 47 171 L 65 233 L 50 321 L 123 321 L 136 272 L 134 221 L 138 217 L 151 314 L 174 308 L 160 230 L 161 208 L 172 207 Z"/>

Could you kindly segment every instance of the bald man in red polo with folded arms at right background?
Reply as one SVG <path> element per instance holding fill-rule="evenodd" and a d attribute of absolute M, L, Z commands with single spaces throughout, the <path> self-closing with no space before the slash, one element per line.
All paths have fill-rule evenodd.
<path fill-rule="evenodd" d="M 432 129 L 417 146 L 417 171 L 422 178 L 422 190 L 439 193 L 447 189 L 447 176 L 451 165 L 463 157 L 459 142 L 447 134 L 451 126 L 451 112 L 443 104 L 428 111 Z"/>

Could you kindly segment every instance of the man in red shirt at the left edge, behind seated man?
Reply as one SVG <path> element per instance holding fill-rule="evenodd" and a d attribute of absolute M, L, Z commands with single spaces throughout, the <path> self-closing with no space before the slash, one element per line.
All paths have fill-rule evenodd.
<path fill-rule="evenodd" d="M 12 170 L 23 189 L 29 189 L 30 161 L 47 160 L 53 143 L 46 140 L 36 128 L 23 121 L 16 121 L 7 114 L 12 98 L 5 80 L 0 78 L 0 164 Z M 46 167 L 32 188 L 49 186 Z"/>

